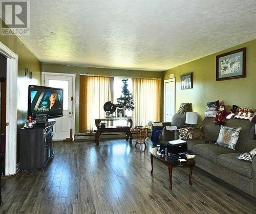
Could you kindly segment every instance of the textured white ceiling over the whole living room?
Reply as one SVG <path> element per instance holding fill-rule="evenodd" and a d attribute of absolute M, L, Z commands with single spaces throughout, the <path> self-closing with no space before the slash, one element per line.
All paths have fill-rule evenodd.
<path fill-rule="evenodd" d="M 41 62 L 166 70 L 256 38 L 256 1 L 30 1 Z"/>

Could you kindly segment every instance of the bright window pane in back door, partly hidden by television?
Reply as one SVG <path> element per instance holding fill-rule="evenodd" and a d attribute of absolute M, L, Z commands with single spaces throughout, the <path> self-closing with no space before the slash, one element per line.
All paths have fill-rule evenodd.
<path fill-rule="evenodd" d="M 49 87 L 63 88 L 63 110 L 69 109 L 69 81 L 68 80 L 49 80 Z"/>

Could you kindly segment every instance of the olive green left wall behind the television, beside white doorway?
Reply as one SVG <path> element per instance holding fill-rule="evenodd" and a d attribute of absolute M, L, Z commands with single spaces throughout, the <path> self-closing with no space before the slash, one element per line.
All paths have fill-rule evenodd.
<path fill-rule="evenodd" d="M 41 63 L 17 36 L 0 36 L 0 41 L 18 55 L 17 79 L 17 162 L 19 160 L 20 128 L 28 112 L 28 86 L 41 84 Z M 32 71 L 32 79 L 25 77 L 25 67 Z M 7 82 L 8 84 L 8 82 Z M 8 98 L 7 98 L 8 99 Z"/>

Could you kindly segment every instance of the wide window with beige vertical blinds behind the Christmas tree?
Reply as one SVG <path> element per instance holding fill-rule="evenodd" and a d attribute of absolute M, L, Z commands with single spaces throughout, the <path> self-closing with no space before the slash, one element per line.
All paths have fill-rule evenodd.
<path fill-rule="evenodd" d="M 96 130 L 95 119 L 105 117 L 104 103 L 117 104 L 121 97 L 123 79 L 128 79 L 127 88 L 134 96 L 135 110 L 125 112 L 133 118 L 133 126 L 160 120 L 160 79 L 80 76 L 80 132 Z M 127 121 L 114 121 L 109 125 L 126 126 Z"/>

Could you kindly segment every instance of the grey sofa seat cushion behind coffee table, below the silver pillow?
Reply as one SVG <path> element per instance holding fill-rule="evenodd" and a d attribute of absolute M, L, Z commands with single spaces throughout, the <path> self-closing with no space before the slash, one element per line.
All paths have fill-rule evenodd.
<path fill-rule="evenodd" d="M 217 157 L 221 154 L 238 152 L 216 144 L 198 144 L 193 147 L 193 151 L 195 155 L 204 157 L 205 159 L 211 160 L 214 163 L 217 163 Z"/>

